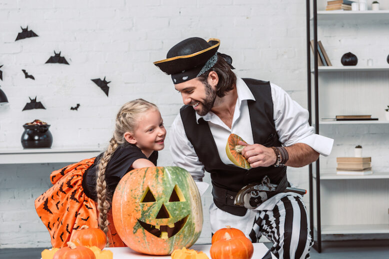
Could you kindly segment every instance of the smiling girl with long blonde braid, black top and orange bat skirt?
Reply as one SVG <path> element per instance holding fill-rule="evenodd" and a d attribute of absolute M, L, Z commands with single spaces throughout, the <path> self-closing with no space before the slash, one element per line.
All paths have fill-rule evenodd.
<path fill-rule="evenodd" d="M 112 222 L 113 191 L 130 170 L 156 165 L 157 151 L 163 149 L 165 136 L 158 108 L 136 99 L 120 108 L 105 152 L 53 171 L 53 186 L 35 200 L 36 212 L 50 233 L 52 247 L 64 247 L 72 230 L 82 225 L 104 231 L 111 247 L 125 246 Z"/>

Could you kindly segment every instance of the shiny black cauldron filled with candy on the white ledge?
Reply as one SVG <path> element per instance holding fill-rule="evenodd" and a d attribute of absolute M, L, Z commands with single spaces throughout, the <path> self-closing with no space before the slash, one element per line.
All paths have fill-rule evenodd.
<path fill-rule="evenodd" d="M 52 135 L 48 130 L 50 125 L 23 125 L 21 135 L 23 148 L 49 148 L 52 144 Z"/>

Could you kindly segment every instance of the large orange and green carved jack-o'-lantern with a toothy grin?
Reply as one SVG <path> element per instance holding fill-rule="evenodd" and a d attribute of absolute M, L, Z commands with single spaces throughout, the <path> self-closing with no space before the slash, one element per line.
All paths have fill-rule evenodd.
<path fill-rule="evenodd" d="M 132 250 L 170 255 L 192 246 L 200 236 L 201 199 L 182 168 L 135 169 L 115 189 L 112 217 L 119 237 Z"/>

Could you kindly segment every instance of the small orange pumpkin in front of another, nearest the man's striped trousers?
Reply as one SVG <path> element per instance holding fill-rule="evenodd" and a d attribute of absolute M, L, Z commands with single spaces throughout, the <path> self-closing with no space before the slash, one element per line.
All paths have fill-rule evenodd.
<path fill-rule="evenodd" d="M 250 259 L 254 247 L 246 237 L 231 238 L 228 233 L 224 238 L 212 244 L 209 250 L 211 259 Z"/>

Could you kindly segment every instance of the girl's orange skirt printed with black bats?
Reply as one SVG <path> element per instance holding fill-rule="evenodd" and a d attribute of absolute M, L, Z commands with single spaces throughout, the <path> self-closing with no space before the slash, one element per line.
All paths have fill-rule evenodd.
<path fill-rule="evenodd" d="M 39 218 L 50 233 L 54 248 L 66 246 L 73 230 L 83 225 L 98 228 L 98 211 L 95 202 L 83 192 L 82 177 L 95 158 L 84 159 L 50 174 L 53 186 L 35 200 Z M 125 247 L 113 226 L 111 212 L 108 213 L 109 230 L 107 239 L 111 247 Z"/>

